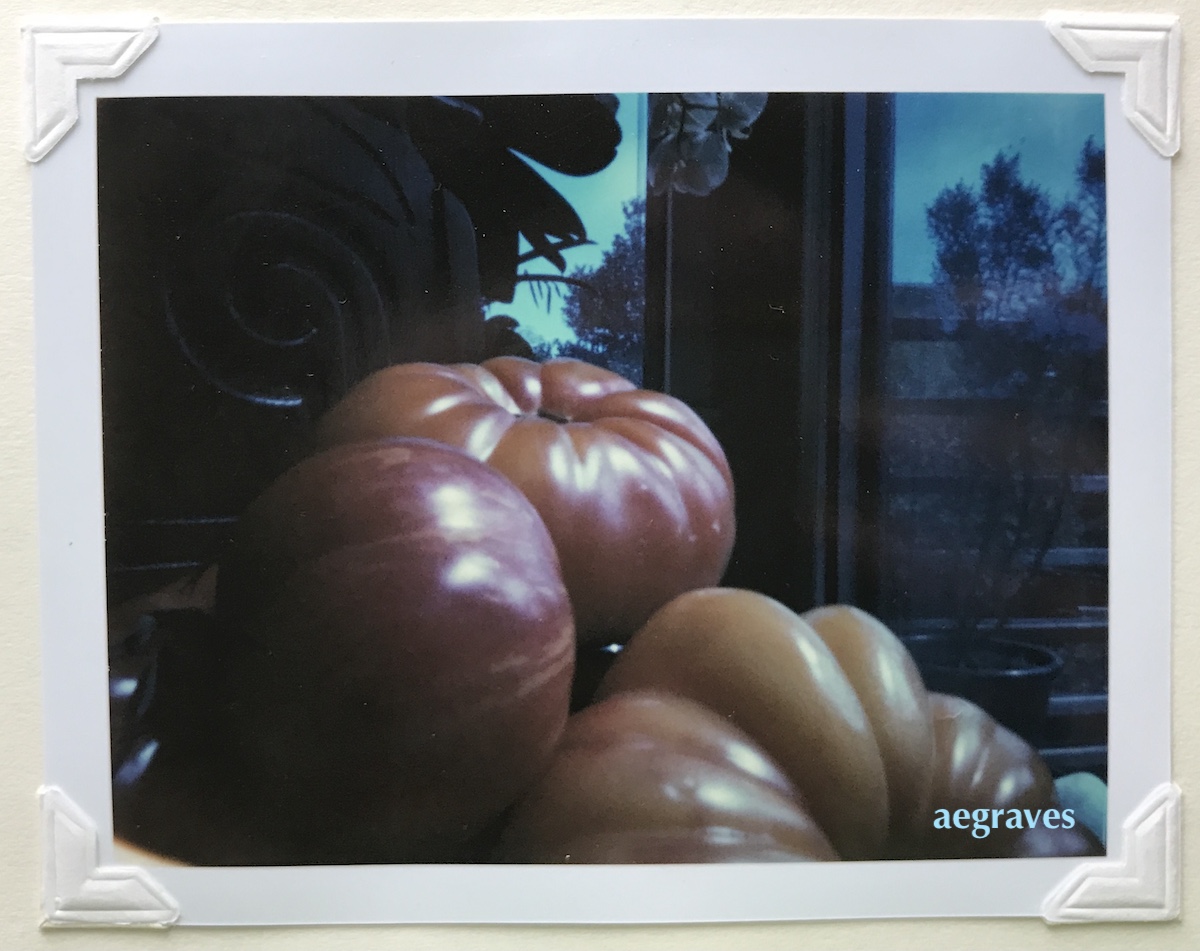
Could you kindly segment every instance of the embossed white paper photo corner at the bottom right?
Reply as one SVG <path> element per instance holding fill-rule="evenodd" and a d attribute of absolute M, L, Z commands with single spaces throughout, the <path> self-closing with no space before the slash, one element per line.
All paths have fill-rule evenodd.
<path fill-rule="evenodd" d="M 1180 788 L 1163 783 L 1122 826 L 1120 859 L 1086 862 L 1042 903 L 1055 925 L 1090 921 L 1170 921 L 1180 915 Z"/>

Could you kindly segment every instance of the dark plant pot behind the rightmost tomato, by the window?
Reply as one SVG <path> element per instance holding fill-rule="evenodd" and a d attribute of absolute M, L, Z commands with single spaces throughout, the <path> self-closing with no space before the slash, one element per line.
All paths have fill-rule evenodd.
<path fill-rule="evenodd" d="M 1050 688 L 1062 658 L 1033 644 L 1001 638 L 918 634 L 905 639 L 925 687 L 983 707 L 1030 743 L 1045 726 Z"/>

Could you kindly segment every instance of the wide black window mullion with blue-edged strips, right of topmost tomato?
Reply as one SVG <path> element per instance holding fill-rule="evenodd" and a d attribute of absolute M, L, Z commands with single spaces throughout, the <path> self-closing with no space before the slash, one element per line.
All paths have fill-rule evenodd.
<path fill-rule="evenodd" d="M 726 184 L 647 202 L 647 384 L 731 456 L 727 582 L 798 609 L 877 597 L 892 180 L 889 96 L 776 94 Z"/>

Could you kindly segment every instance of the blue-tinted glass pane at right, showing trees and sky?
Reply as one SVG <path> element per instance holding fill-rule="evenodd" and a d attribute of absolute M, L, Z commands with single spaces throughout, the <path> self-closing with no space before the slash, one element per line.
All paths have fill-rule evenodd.
<path fill-rule="evenodd" d="M 988 662 L 962 653 L 980 633 L 1050 646 L 1056 693 L 1104 693 L 1103 100 L 899 95 L 895 116 L 880 612 L 961 664 Z"/>

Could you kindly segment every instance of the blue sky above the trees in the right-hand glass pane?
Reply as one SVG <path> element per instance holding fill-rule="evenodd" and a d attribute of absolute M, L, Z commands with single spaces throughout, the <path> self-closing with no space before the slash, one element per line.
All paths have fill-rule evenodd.
<path fill-rule="evenodd" d="M 1021 156 L 1021 174 L 1061 202 L 1075 187 L 1087 137 L 1104 144 L 1104 98 L 1063 94 L 905 94 L 896 96 L 892 280 L 925 283 L 934 243 L 925 209 L 1001 149 Z"/>

